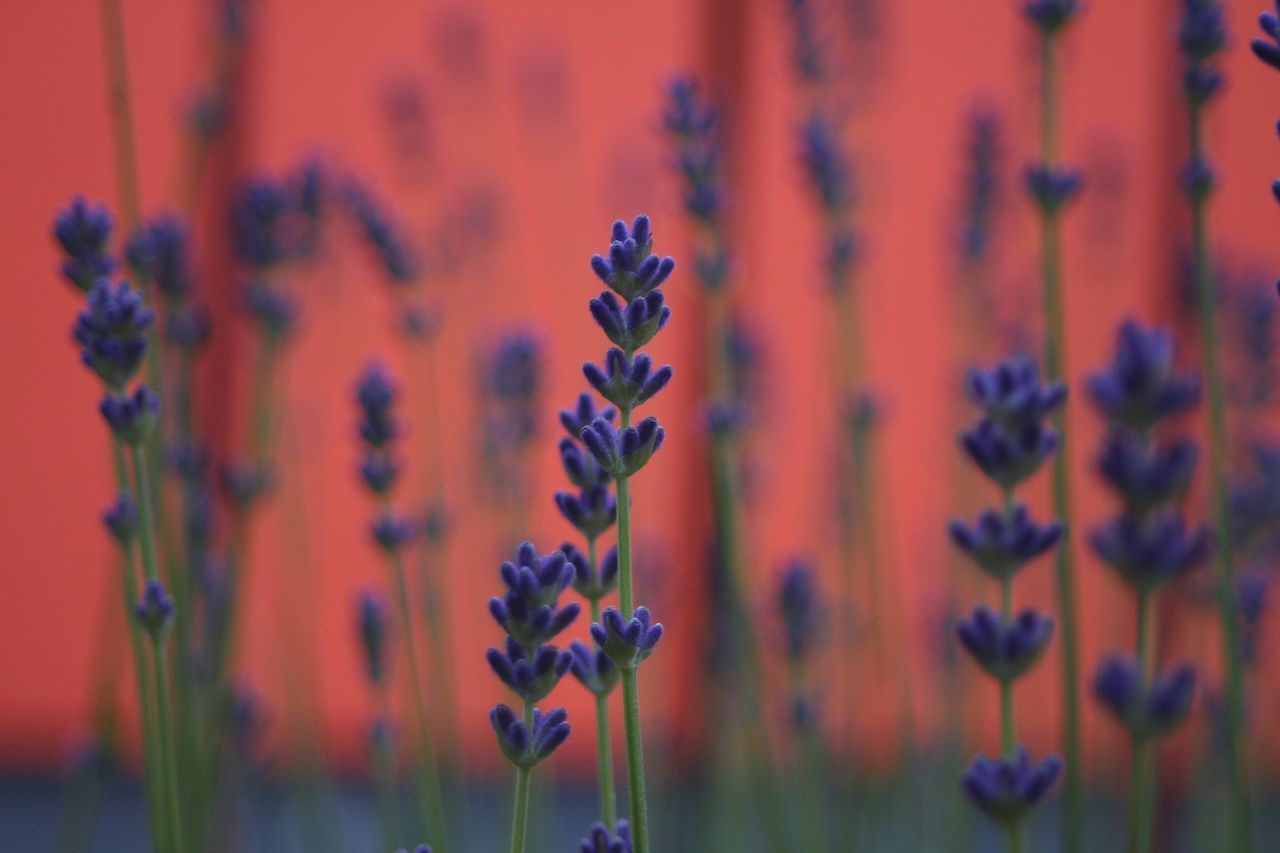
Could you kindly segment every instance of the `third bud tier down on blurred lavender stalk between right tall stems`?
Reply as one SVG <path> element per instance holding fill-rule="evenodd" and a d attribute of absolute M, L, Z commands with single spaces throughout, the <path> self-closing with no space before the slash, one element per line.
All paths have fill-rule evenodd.
<path fill-rule="evenodd" d="M 1155 589 L 1180 578 L 1204 560 L 1210 549 L 1208 530 L 1188 530 L 1175 510 L 1151 519 L 1120 515 L 1089 537 L 1093 551 L 1121 579 L 1139 589 Z"/>

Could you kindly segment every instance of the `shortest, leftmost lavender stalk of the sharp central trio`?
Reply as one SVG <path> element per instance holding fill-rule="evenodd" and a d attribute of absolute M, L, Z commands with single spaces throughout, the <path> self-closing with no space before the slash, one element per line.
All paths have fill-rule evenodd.
<path fill-rule="evenodd" d="M 536 703 L 559 683 L 573 654 L 550 644 L 581 610 L 576 602 L 559 606 L 558 598 L 576 576 L 575 566 L 559 551 L 539 556 L 529 542 L 516 551 L 515 562 L 503 562 L 500 598 L 489 599 L 489 613 L 507 633 L 506 651 L 490 648 L 489 667 L 520 697 L 522 711 L 498 704 L 489 721 L 498 747 L 516 766 L 516 802 L 512 809 L 511 850 L 522 853 L 529 831 L 529 793 L 532 768 L 550 757 L 568 738 L 564 708 L 543 713 Z"/>

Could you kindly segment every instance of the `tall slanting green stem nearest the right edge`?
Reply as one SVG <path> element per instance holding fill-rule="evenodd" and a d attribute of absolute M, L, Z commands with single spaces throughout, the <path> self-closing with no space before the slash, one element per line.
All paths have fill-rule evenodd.
<path fill-rule="evenodd" d="M 1192 158 L 1203 156 L 1202 115 L 1190 106 Z M 1219 621 L 1222 631 L 1222 669 L 1226 674 L 1226 758 L 1231 776 L 1231 849 L 1252 849 L 1249 833 L 1249 784 L 1244 752 L 1244 675 L 1240 666 L 1240 638 L 1235 613 L 1235 555 L 1226 488 L 1226 396 L 1224 392 L 1219 345 L 1217 292 L 1210 257 L 1207 199 L 1192 200 L 1192 246 L 1196 256 L 1196 286 L 1199 302 L 1201 345 L 1204 361 L 1204 387 L 1208 396 L 1208 480 L 1216 546 L 1213 569 Z"/>

